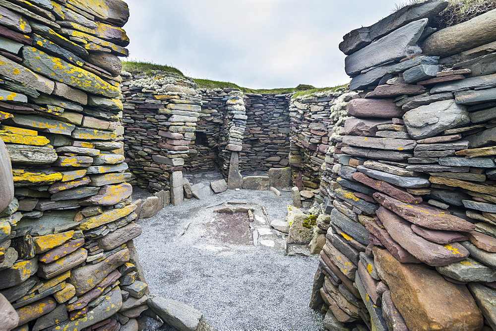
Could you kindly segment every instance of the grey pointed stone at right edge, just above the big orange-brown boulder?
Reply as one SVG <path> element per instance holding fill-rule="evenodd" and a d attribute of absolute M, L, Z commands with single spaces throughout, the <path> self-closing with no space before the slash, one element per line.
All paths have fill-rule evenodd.
<path fill-rule="evenodd" d="M 496 281 L 496 269 L 471 258 L 450 265 L 436 266 L 436 270 L 459 281 Z"/>

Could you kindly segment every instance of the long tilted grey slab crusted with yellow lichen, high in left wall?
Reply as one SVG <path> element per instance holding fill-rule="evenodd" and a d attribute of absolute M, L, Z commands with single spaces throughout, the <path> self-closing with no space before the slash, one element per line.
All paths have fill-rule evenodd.
<path fill-rule="evenodd" d="M 22 48 L 22 55 L 24 66 L 53 77 L 58 81 L 97 95 L 105 95 L 111 98 L 119 96 L 118 87 L 107 83 L 94 73 L 73 66 L 59 58 L 48 56 L 36 48 L 25 46 Z M 54 68 L 54 63 L 58 64 L 56 68 Z M 54 85 L 52 84 L 50 93 L 53 91 L 53 87 Z"/>

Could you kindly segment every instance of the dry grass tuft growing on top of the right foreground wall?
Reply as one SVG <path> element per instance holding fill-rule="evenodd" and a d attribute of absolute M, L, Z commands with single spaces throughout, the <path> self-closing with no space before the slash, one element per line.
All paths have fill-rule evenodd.
<path fill-rule="evenodd" d="M 409 0 L 396 4 L 393 12 L 404 6 L 425 2 L 427 0 Z M 431 26 L 444 29 L 448 26 L 463 23 L 485 12 L 496 9 L 496 0 L 447 0 L 449 2 L 446 9 L 434 17 Z"/>

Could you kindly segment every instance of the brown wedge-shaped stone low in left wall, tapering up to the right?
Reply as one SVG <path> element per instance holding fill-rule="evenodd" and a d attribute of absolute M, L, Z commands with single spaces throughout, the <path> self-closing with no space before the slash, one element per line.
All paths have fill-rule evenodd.
<path fill-rule="evenodd" d="M 70 282 L 76 288 L 76 295 L 79 296 L 88 292 L 118 266 L 123 265 L 127 261 L 129 261 L 129 250 L 123 249 L 99 263 L 81 266 L 72 270 Z"/>

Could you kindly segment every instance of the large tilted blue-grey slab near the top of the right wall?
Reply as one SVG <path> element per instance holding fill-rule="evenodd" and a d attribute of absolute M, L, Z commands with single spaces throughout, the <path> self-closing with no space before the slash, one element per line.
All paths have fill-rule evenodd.
<path fill-rule="evenodd" d="M 427 18 L 411 22 L 346 57 L 346 73 L 356 76 L 372 66 L 421 54 L 422 50 L 417 46 L 417 41 L 424 32 L 427 22 Z"/>

